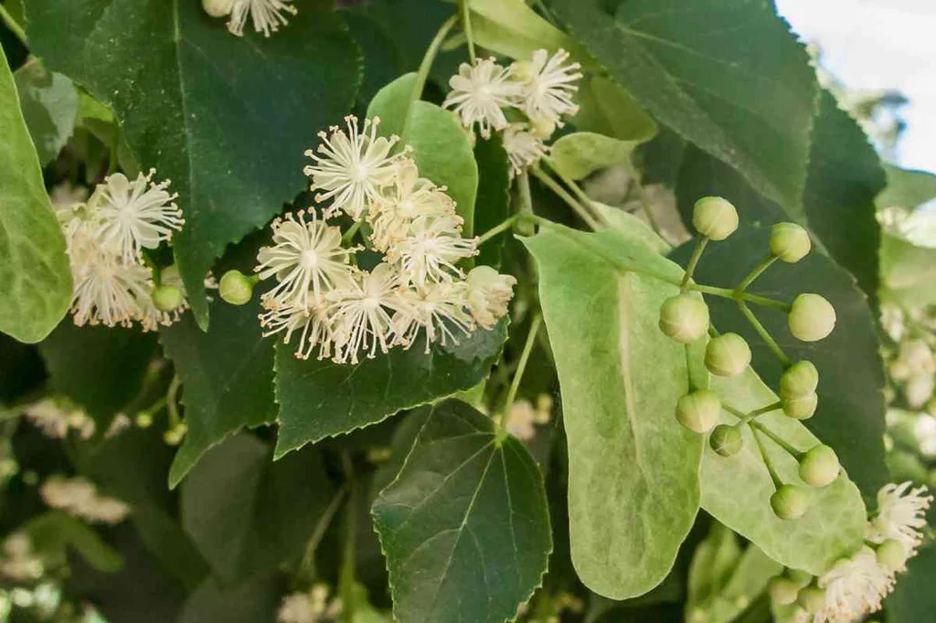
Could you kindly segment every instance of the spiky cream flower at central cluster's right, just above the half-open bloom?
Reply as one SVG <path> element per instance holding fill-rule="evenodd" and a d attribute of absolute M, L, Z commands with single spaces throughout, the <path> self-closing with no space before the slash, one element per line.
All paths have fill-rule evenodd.
<path fill-rule="evenodd" d="M 463 239 L 460 233 L 458 216 L 420 217 L 409 237 L 389 250 L 388 261 L 398 263 L 404 281 L 417 287 L 461 277 L 455 263 L 477 254 L 477 239 Z"/>

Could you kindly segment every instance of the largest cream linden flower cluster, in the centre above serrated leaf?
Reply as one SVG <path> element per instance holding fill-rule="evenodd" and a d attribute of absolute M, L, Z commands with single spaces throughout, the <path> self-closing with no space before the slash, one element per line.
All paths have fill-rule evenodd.
<path fill-rule="evenodd" d="M 507 312 L 513 277 L 489 267 L 467 275 L 458 263 L 477 253 L 477 239 L 461 238 L 461 217 L 445 187 L 419 177 L 408 150 L 391 153 L 399 138 L 377 136 L 377 124 L 353 116 L 346 129 L 320 133 L 305 167 L 321 210 L 300 210 L 272 223 L 272 246 L 260 249 L 256 272 L 276 284 L 263 297 L 265 335 L 299 336 L 296 356 L 358 363 L 393 346 L 406 349 L 425 335 L 458 343 L 476 326 L 490 328 Z M 343 234 L 328 219 L 355 221 Z M 372 270 L 356 266 L 360 246 L 344 246 L 367 225 L 369 247 L 384 255 Z"/>

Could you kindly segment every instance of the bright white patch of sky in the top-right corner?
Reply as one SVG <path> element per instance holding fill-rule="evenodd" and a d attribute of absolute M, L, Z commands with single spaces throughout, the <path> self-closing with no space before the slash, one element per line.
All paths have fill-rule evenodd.
<path fill-rule="evenodd" d="M 896 89 L 910 103 L 900 167 L 936 171 L 936 0 L 776 0 L 823 65 L 856 89 Z"/>

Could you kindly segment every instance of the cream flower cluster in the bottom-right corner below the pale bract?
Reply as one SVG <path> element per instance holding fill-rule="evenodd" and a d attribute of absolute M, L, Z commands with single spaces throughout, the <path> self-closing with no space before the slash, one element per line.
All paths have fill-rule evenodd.
<path fill-rule="evenodd" d="M 926 512 L 932 496 L 925 486 L 911 483 L 885 485 L 877 496 L 878 509 L 868 524 L 867 542 L 879 548 L 899 543 L 899 559 L 882 561 L 880 550 L 864 545 L 858 552 L 837 562 L 819 576 L 816 584 L 825 590 L 819 612 L 797 611 L 794 623 L 851 623 L 881 609 L 893 590 L 896 573 L 906 571 L 906 562 L 916 555 L 926 528 Z M 894 550 L 891 549 L 891 552 Z"/>

